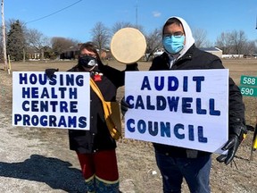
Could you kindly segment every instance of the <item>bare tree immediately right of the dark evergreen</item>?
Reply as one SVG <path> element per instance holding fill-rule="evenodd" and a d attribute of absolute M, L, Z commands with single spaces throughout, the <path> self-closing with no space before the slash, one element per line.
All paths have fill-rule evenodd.
<path fill-rule="evenodd" d="M 40 59 L 43 60 L 44 56 L 44 48 L 50 45 L 49 38 L 43 35 L 37 29 L 28 29 L 26 34 L 26 39 L 28 45 L 37 49 L 40 52 Z"/>

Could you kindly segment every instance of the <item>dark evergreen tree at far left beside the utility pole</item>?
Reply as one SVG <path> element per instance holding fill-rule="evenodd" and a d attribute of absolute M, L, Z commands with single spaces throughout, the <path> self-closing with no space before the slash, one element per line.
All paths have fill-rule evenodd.
<path fill-rule="evenodd" d="M 20 21 L 17 20 L 11 24 L 11 29 L 7 33 L 7 55 L 10 55 L 11 60 L 21 61 L 23 59 L 24 46 L 24 33 Z"/>

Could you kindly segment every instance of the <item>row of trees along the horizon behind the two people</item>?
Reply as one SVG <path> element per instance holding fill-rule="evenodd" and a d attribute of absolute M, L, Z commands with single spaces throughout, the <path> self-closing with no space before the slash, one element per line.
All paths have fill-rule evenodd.
<path fill-rule="evenodd" d="M 70 48 L 79 49 L 79 43 L 81 43 L 73 38 L 47 38 L 37 29 L 28 29 L 26 24 L 19 20 L 10 20 L 6 26 L 6 52 L 13 61 L 25 61 L 29 57 L 31 58 L 33 53 L 37 53 L 39 59 L 58 59 L 63 52 Z M 157 49 L 162 48 L 162 29 L 156 28 L 145 33 L 143 26 L 136 26 L 124 21 L 114 23 L 112 28 L 106 27 L 101 21 L 96 22 L 91 29 L 91 40 L 89 41 L 95 43 L 100 51 L 110 49 L 112 36 L 119 29 L 126 27 L 139 29 L 145 35 L 147 45 L 145 53 L 148 55 L 151 56 Z M 214 43 L 208 41 L 207 32 L 204 29 L 193 29 L 193 36 L 195 46 L 216 46 L 223 51 L 223 55 L 253 55 L 257 53 L 257 39 L 247 39 L 243 30 L 222 32 Z M 0 49 L 3 53 L 2 45 Z"/>

